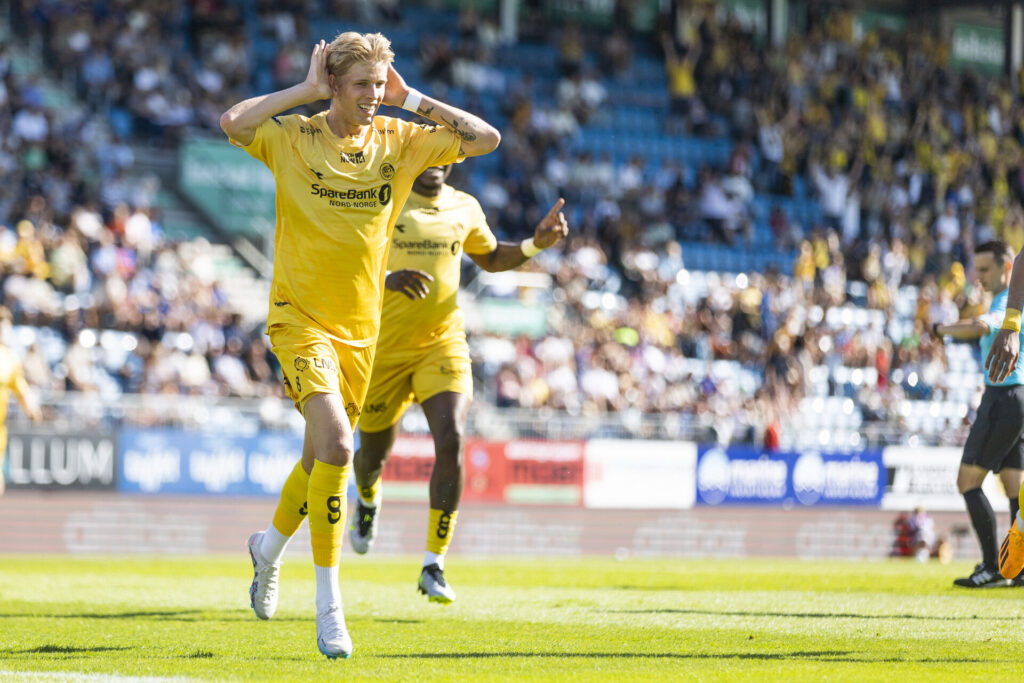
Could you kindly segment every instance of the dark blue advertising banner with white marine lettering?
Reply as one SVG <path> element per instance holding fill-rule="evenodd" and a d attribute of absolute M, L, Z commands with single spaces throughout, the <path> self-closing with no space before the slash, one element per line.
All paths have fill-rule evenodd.
<path fill-rule="evenodd" d="M 882 452 L 768 453 L 752 446 L 701 446 L 700 505 L 878 506 L 886 486 Z"/>

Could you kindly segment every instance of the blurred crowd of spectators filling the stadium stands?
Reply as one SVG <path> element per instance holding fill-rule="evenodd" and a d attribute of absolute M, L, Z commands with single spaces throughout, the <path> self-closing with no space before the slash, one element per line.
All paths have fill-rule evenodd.
<path fill-rule="evenodd" d="M 127 138 L 173 145 L 189 130 L 216 129 L 226 103 L 252 89 L 253 35 L 280 46 L 275 84 L 301 78 L 307 4 L 261 2 L 239 31 L 236 6 L 213 0 L 71 11 L 11 3 L 12 26 L 24 27 L 14 42 L 40 50 L 78 96 L 71 106 L 48 96 L 53 74 L 19 71 L 0 43 L 4 303 L 19 326 L 54 329 L 67 349 L 47 359 L 30 344 L 30 382 L 52 392 L 281 395 L 260 326 L 225 310 L 202 242 L 163 239 L 151 209 L 157 188 L 132 173 Z M 329 4 L 385 32 L 400 20 L 397 3 Z M 496 88 L 507 93 L 500 172 L 473 187 L 500 238 L 524 233 L 558 196 L 574 232 L 528 266 L 554 282 L 550 334 L 472 339 L 481 398 L 573 414 L 678 413 L 772 443 L 810 395 L 816 367 L 877 371 L 853 396 L 869 421 L 898 424 L 905 397 L 943 394 L 944 347 L 925 330 L 980 305 L 974 244 L 1024 244 L 1024 117 L 1008 84 L 951 72 L 926 36 L 855 42 L 842 12 L 771 49 L 699 5 L 681 35 L 646 43 L 624 28 L 568 24 L 541 35 L 524 25 L 534 29 L 524 38 L 558 50 L 557 80 L 540 84 L 499 69 L 499 34 L 476 18 L 464 12 L 452 38 L 423 36 L 425 86 L 464 90 L 469 109 Z M 581 127 L 609 116 L 611 79 L 628 76 L 635 53 L 663 48 L 667 129 L 727 136 L 724 167 L 639 156 L 615 164 L 572 151 Z M 741 248 L 757 196 L 813 197 L 821 221 L 802 225 L 780 202 L 768 224 L 796 260 L 695 287 L 686 241 Z M 851 298 L 853 282 L 864 288 Z M 908 284 L 920 298 L 903 315 Z M 829 325 L 827 311 L 849 301 L 883 311 L 886 324 Z M 898 319 L 907 325 L 889 325 Z M 103 366 L 89 332 L 106 329 L 133 340 L 116 368 Z M 757 381 L 692 362 L 716 359 L 753 369 Z"/>

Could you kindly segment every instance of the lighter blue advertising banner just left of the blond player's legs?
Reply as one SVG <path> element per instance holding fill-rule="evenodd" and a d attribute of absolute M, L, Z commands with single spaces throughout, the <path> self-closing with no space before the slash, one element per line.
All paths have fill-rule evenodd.
<path fill-rule="evenodd" d="M 118 489 L 131 494 L 276 496 L 302 454 L 302 437 L 179 429 L 119 435 Z"/>

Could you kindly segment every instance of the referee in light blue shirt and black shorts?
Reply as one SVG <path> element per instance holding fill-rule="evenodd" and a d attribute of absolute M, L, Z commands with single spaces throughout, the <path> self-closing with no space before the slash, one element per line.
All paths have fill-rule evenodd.
<path fill-rule="evenodd" d="M 932 326 L 935 336 L 953 339 L 980 339 L 981 357 L 986 357 L 992 340 L 1002 326 L 1007 310 L 1010 273 L 1014 264 L 1014 251 L 1006 242 L 986 242 L 974 250 L 974 267 L 982 288 L 992 294 L 988 312 L 949 325 Z M 996 558 L 997 528 L 995 513 L 981 484 L 989 472 L 995 472 L 1010 499 L 1010 520 L 1017 516 L 1022 468 L 1024 468 L 1024 366 L 993 382 L 985 377 L 985 393 L 978 407 L 978 415 L 971 426 L 971 433 L 964 444 L 964 458 L 956 474 L 956 487 L 964 496 L 971 525 L 981 544 L 981 563 L 970 577 L 957 579 L 953 585 L 964 588 L 993 588 L 1009 586 L 1011 582 L 999 575 Z M 1013 584 L 1018 585 L 1020 579 Z M 1024 584 L 1021 584 L 1024 585 Z"/>

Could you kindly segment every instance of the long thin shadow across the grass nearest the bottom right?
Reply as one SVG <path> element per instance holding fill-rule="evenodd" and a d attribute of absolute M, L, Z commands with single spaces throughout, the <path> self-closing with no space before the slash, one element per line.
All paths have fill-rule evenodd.
<path fill-rule="evenodd" d="M 811 652 L 410 652 L 407 654 L 379 654 L 382 659 L 486 659 L 497 657 L 521 658 L 580 658 L 580 659 L 755 659 L 755 660 L 807 660 L 849 663 L 902 663 L 902 664 L 1006 664 L 1016 659 L 986 659 L 973 657 L 871 657 L 849 650 L 820 650 Z"/>

